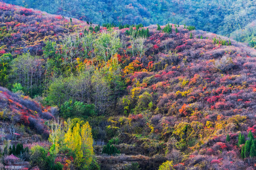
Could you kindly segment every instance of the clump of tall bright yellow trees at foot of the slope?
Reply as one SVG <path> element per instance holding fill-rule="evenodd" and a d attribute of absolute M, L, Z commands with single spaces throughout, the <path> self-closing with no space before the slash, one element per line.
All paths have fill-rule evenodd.
<path fill-rule="evenodd" d="M 74 163 L 77 170 L 84 170 L 89 167 L 94 155 L 92 128 L 88 122 L 79 121 L 74 126 L 75 122 L 74 119 L 51 122 L 49 141 L 55 155 L 61 149 L 75 153 Z"/>

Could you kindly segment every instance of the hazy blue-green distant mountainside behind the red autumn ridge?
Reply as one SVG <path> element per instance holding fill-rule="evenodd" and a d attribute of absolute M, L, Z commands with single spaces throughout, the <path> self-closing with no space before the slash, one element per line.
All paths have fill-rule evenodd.
<path fill-rule="evenodd" d="M 103 25 L 174 23 L 229 35 L 256 18 L 255 0 L 3 0 Z M 236 18 L 236 19 L 234 19 Z"/>

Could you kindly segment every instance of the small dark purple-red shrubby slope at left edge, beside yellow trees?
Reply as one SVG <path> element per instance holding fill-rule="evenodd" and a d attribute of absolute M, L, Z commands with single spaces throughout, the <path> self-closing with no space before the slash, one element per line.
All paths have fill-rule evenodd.
<path fill-rule="evenodd" d="M 4 138 L 13 142 L 19 138 L 26 141 L 24 144 L 32 144 L 28 139 L 35 140 L 38 136 L 47 140 L 49 131 L 45 122 L 54 119 L 49 110 L 28 96 L 0 87 L 1 142 Z"/>

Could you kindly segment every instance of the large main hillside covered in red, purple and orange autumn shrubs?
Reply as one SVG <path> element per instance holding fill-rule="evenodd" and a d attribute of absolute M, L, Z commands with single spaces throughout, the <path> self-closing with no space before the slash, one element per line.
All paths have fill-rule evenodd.
<path fill-rule="evenodd" d="M 59 109 L 54 115 L 64 123 L 48 127 L 46 147 L 56 166 L 255 169 L 255 49 L 193 26 L 103 27 L 4 3 L 0 9 L 1 85 Z M 6 105 L 24 102 L 2 91 L 15 96 L 14 104 L 1 99 Z M 33 119 L 52 119 L 39 106 L 22 107 L 37 111 Z M 90 131 L 94 139 L 87 157 L 72 143 L 84 128 L 88 146 Z M 55 141 L 54 132 L 65 139 Z"/>

